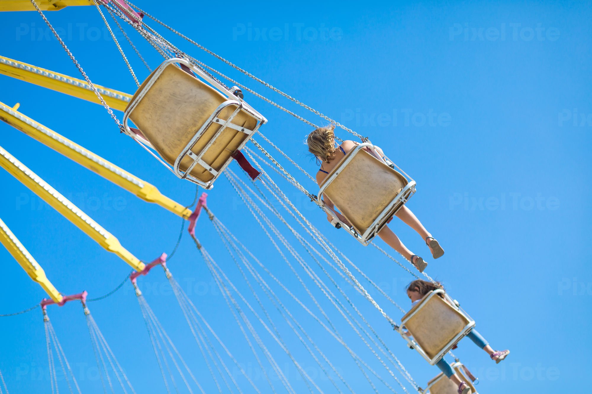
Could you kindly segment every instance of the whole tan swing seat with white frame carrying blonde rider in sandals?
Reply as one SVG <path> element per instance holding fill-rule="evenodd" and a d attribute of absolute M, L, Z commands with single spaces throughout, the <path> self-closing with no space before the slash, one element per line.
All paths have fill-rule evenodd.
<path fill-rule="evenodd" d="M 368 245 L 382 227 L 415 193 L 415 181 L 394 170 L 387 161 L 378 159 L 366 149 L 376 152 L 369 142 L 355 146 L 320 184 L 318 201 L 321 207 L 343 228 Z M 388 160 L 385 158 L 385 160 Z M 348 219 L 343 223 L 326 206 L 323 194 Z"/>

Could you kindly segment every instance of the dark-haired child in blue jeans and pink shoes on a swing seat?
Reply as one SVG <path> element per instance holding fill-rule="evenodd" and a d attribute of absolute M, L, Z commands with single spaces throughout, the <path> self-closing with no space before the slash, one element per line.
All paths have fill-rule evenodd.
<path fill-rule="evenodd" d="M 413 306 L 420 302 L 424 295 L 436 289 L 443 290 L 444 288 L 440 283 L 432 283 L 422 281 L 421 279 L 417 279 L 417 281 L 413 281 L 407 286 L 407 296 L 409 297 L 409 299 L 411 299 L 411 305 Z M 407 335 L 411 336 L 411 334 L 408 332 Z M 480 349 L 485 350 L 487 354 L 489 354 L 491 359 L 496 362 L 496 364 L 506 359 L 508 354 L 510 354 L 510 350 L 493 350 L 493 348 L 489 346 L 485 338 L 483 338 L 481 334 L 477 332 L 477 330 L 471 330 L 466 336 L 471 338 L 471 340 L 478 347 L 480 347 Z M 452 382 L 458 385 L 459 394 L 471 394 L 471 389 L 468 387 L 468 385 L 461 379 L 459 379 L 458 375 L 456 375 L 452 367 L 443 358 L 436 363 L 436 366 L 444 373 L 444 375 L 451 379 Z"/>

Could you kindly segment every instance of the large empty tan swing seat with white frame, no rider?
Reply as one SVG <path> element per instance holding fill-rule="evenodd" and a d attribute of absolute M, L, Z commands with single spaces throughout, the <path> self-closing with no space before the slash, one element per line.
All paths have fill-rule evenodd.
<path fill-rule="evenodd" d="M 266 122 L 237 90 L 185 59 L 166 60 L 130 100 L 125 132 L 179 178 L 210 188 Z"/>

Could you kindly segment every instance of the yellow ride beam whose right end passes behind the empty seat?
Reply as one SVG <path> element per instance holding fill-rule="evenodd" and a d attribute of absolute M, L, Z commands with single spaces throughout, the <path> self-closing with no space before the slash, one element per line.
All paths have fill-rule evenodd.
<path fill-rule="evenodd" d="M 0 4 L 2 4 L 2 2 L 4 2 L 4 0 L 0 0 Z M 30 1 L 27 2 L 32 6 Z M 98 97 L 96 97 L 95 93 L 91 90 L 91 87 L 85 80 L 41 69 L 32 64 L 23 63 L 22 61 L 0 56 L 0 74 L 33 83 L 38 86 L 47 87 L 47 89 L 78 97 L 79 99 L 101 104 Z M 105 102 L 107 102 L 107 104 L 113 109 L 123 111 L 131 100 L 131 95 L 128 95 L 127 93 L 96 84 L 95 87 L 98 89 L 99 93 L 101 93 Z"/>

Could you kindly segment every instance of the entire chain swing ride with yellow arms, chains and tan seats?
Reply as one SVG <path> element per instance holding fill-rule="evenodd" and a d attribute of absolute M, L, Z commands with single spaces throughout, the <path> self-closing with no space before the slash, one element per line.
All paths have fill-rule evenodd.
<path fill-rule="evenodd" d="M 75 60 L 69 48 L 67 48 L 44 14 L 44 11 L 57 11 L 66 6 L 83 5 L 95 6 L 107 25 L 112 39 L 117 44 L 134 82 L 138 86 L 133 95 L 91 82 L 91 79 L 83 71 L 78 61 Z M 130 61 L 121 48 L 102 10 L 107 11 L 112 17 L 128 43 L 134 48 L 134 51 L 136 51 L 140 60 L 150 72 L 143 83 L 140 83 L 137 79 Z M 301 321 L 295 318 L 288 307 L 289 304 L 298 305 L 307 317 L 311 318 L 311 321 L 314 321 L 315 324 L 322 328 L 323 334 L 326 333 L 328 338 L 345 352 L 344 354 L 353 361 L 372 391 L 378 393 L 388 389 L 396 393 L 396 389 L 392 387 L 394 382 L 407 394 L 410 392 L 405 386 L 407 383 L 411 386 L 412 391 L 419 393 L 448 394 L 456 392 L 456 386 L 445 376 L 443 377 L 442 374 L 430 380 L 427 388 L 422 389 L 406 367 L 403 366 L 403 363 L 395 356 L 387 341 L 382 339 L 374 324 L 368 321 L 366 317 L 367 311 L 365 315 L 362 312 L 363 308 L 356 304 L 358 301 L 336 281 L 334 276 L 338 275 L 345 283 L 352 286 L 358 295 L 368 301 L 379 312 L 379 315 L 387 320 L 391 328 L 401 333 L 409 346 L 417 350 L 429 364 L 434 365 L 439 360 L 442 360 L 446 354 L 450 354 L 455 359 L 452 367 L 457 375 L 469 385 L 472 393 L 477 393 L 473 385 L 474 377 L 459 362 L 458 358 L 451 353 L 453 347 L 475 326 L 475 321 L 459 307 L 458 302 L 454 301 L 442 290 L 437 290 L 427 294 L 419 304 L 406 312 L 358 268 L 345 253 L 336 248 L 307 219 L 301 210 L 297 209 L 293 201 L 287 196 L 285 187 L 281 186 L 291 185 L 303 192 L 305 196 L 310 198 L 312 203 L 317 204 L 318 207 L 332 216 L 346 232 L 354 236 L 364 246 L 374 246 L 410 275 L 419 279 L 417 273 L 411 271 L 407 265 L 398 262 L 393 256 L 371 242 L 373 237 L 416 192 L 416 183 L 394 162 L 385 156 L 381 157 L 376 146 L 368 138 L 362 137 L 346 126 L 340 125 L 339 122 L 333 121 L 323 113 L 305 105 L 294 97 L 287 95 L 287 93 L 202 47 L 191 38 L 185 37 L 185 35 L 127 0 L 3 0 L 0 1 L 0 11 L 38 12 L 79 69 L 83 79 L 76 79 L 75 77 L 1 56 L 0 74 L 46 87 L 78 99 L 99 103 L 107 110 L 119 131 L 133 138 L 146 151 L 150 152 L 157 161 L 173 172 L 176 177 L 188 180 L 207 190 L 211 189 L 215 181 L 219 181 L 219 178 L 225 178 L 231 189 L 236 191 L 247 211 L 259 224 L 262 232 L 265 233 L 269 244 L 276 249 L 279 258 L 288 267 L 288 272 L 291 272 L 297 279 L 297 289 L 292 288 L 284 280 L 278 278 L 278 275 L 271 271 L 269 266 L 265 265 L 252 250 L 241 243 L 239 238 L 230 231 L 229 227 L 215 216 L 213 210 L 207 205 L 207 194 L 204 193 L 199 199 L 196 198 L 194 209 L 192 209 L 194 204 L 184 206 L 160 193 L 154 185 L 147 181 L 136 177 L 24 115 L 18 110 L 18 105 L 11 107 L 0 102 L 0 119 L 8 125 L 59 152 L 76 164 L 133 193 L 142 200 L 155 203 L 189 222 L 189 235 L 202 256 L 205 266 L 214 278 L 215 284 L 220 289 L 220 294 L 228 305 L 237 327 L 239 327 L 240 335 L 244 337 L 244 343 L 247 344 L 272 392 L 276 392 L 276 385 L 281 385 L 288 393 L 295 393 L 297 390 L 292 386 L 291 379 L 286 376 L 279 366 L 276 360 L 277 354 L 268 349 L 267 340 L 271 340 L 277 346 L 277 349 L 280 350 L 277 353 L 281 353 L 282 357 L 288 357 L 310 392 L 322 393 L 323 389 L 314 379 L 314 376 L 310 376 L 303 363 L 298 359 L 301 352 L 292 350 L 294 345 L 285 338 L 287 334 L 281 332 L 278 327 L 279 324 L 275 323 L 274 318 L 269 314 L 271 308 L 265 307 L 264 302 L 271 303 L 268 305 L 272 305 L 278 312 L 278 315 L 274 315 L 275 320 L 281 318 L 283 328 L 286 328 L 285 325 L 287 324 L 289 335 L 294 335 L 297 338 L 306 353 L 320 367 L 323 375 L 327 377 L 327 380 L 339 393 L 344 391 L 355 392 L 349 376 L 340 372 L 340 367 L 336 366 L 335 360 L 332 360 L 326 351 L 321 349 L 320 341 L 311 334 L 310 330 L 307 330 L 307 327 Z M 352 149 L 329 173 L 326 180 L 320 185 L 318 193 L 310 193 L 291 172 L 280 164 L 278 159 L 274 158 L 257 141 L 261 138 L 262 141 L 274 148 L 289 165 L 303 172 L 307 180 L 314 181 L 310 174 L 276 146 L 268 136 L 260 132 L 260 126 L 264 125 L 267 119 L 246 102 L 244 95 L 250 93 L 253 97 L 258 97 L 264 102 L 270 103 L 275 108 L 289 113 L 289 115 L 307 123 L 307 125 L 317 126 L 307 121 L 303 116 L 297 115 L 297 113 L 260 95 L 245 84 L 227 77 L 213 67 L 207 66 L 197 58 L 181 51 L 162 34 L 150 27 L 144 20 L 146 17 L 221 60 L 227 66 L 263 84 L 263 86 L 284 99 L 288 99 L 297 106 L 307 109 L 314 115 L 324 119 L 324 121 L 332 122 L 345 131 L 352 133 L 352 135 L 361 139 L 361 144 Z M 123 22 L 123 25 L 127 25 L 127 27 L 131 27 L 162 57 L 162 63 L 154 70 L 150 68 L 137 47 L 131 42 L 120 22 Z M 233 86 L 228 87 L 214 74 L 217 74 L 221 79 L 228 80 Z M 113 110 L 123 112 L 121 122 Z M 257 149 L 253 149 L 253 147 Z M 372 155 L 369 151 L 374 152 L 375 155 Z M 231 166 L 233 161 L 236 161 L 248 175 L 246 180 L 243 176 L 234 172 Z M 179 348 L 175 346 L 172 338 L 166 333 L 164 325 L 160 323 L 141 292 L 140 277 L 149 275 L 152 269 L 157 267 L 163 269 L 165 277 L 173 289 L 173 294 L 189 325 L 192 337 L 204 362 L 207 364 L 207 370 L 211 374 L 215 388 L 219 392 L 224 392 L 226 389 L 229 392 L 233 392 L 234 389 L 242 392 L 242 389 L 246 390 L 247 388 L 257 393 L 266 392 L 267 389 L 262 387 L 262 383 L 258 382 L 256 384 L 252 377 L 249 376 L 249 373 L 244 370 L 239 359 L 233 355 L 214 328 L 205 320 L 204 315 L 201 314 L 169 271 L 167 262 L 174 252 L 170 253 L 169 256 L 163 253 L 152 262 L 146 263 L 124 248 L 115 236 L 111 235 L 100 224 L 1 146 L 0 167 L 46 201 L 54 210 L 66 217 L 101 245 L 102 248 L 115 253 L 128 266 L 131 266 L 132 271 L 124 282 L 129 279 L 133 285 L 134 294 L 139 302 L 144 323 L 146 323 L 150 344 L 155 352 L 166 392 L 178 392 L 178 386 L 182 387 L 182 385 L 190 393 L 196 388 L 202 393 L 205 393 L 206 390 L 200 383 L 204 377 L 192 372 L 191 367 L 182 356 L 185 349 L 179 351 Z M 272 175 L 274 176 L 272 177 Z M 373 193 L 365 193 L 368 188 L 371 188 Z M 323 196 L 329 197 L 339 207 L 340 213 L 343 214 L 349 224 L 339 220 L 333 210 L 329 209 L 324 203 Z M 197 221 L 202 212 L 205 213 L 205 216 L 213 225 L 215 233 L 220 237 L 224 249 L 229 253 L 231 261 L 234 262 L 242 279 L 252 292 L 252 297 L 257 305 L 253 305 L 253 301 L 247 299 L 251 295 L 244 295 L 239 287 L 234 285 L 196 236 Z M 298 242 L 297 247 L 292 245 L 291 240 Z M 96 363 L 99 371 L 101 371 L 100 376 L 104 392 L 107 392 L 107 387 L 110 388 L 111 392 L 114 392 L 114 386 L 117 386 L 117 384 L 124 393 L 127 392 L 127 389 L 135 392 L 130 380 L 124 373 L 124 369 L 121 368 L 114 352 L 91 316 L 87 305 L 89 302 L 99 301 L 114 294 L 123 283 L 104 297 L 89 299 L 85 291 L 74 295 L 64 295 L 57 291 L 47 279 L 43 268 L 2 220 L 0 220 L 0 242 L 14 256 L 14 259 L 22 266 L 30 278 L 40 284 L 41 288 L 49 296 L 49 299 L 43 299 L 37 306 L 40 306 L 43 312 L 52 393 L 59 392 L 60 379 L 57 378 L 56 359 L 62 369 L 69 391 L 72 393 L 81 392 L 47 312 L 50 305 L 62 306 L 66 302 L 81 302 L 82 304 Z M 302 250 L 307 255 L 304 255 Z M 430 281 L 433 280 L 427 273 L 423 273 L 423 277 Z M 368 282 L 368 289 L 362 285 L 362 279 L 358 278 L 363 278 L 363 281 Z M 310 283 L 313 285 L 311 286 Z M 287 296 L 289 302 L 283 300 L 284 297 L 280 297 L 274 288 L 281 291 L 282 295 Z M 307 297 L 307 299 L 300 297 L 300 294 L 303 294 L 301 288 L 304 289 L 304 297 Z M 263 297 L 259 297 L 256 289 L 260 289 L 268 301 L 265 301 Z M 376 294 L 374 297 L 371 295 L 371 291 Z M 397 323 L 390 313 L 379 305 L 375 299 L 377 296 L 384 297 L 388 301 L 389 308 L 391 308 L 392 304 L 392 307 L 397 308 L 404 314 L 401 323 Z M 442 297 L 448 299 L 448 302 Z M 308 298 L 310 298 L 310 301 Z M 330 305 L 330 309 L 326 307 L 327 304 Z M 250 318 L 243 311 L 244 307 L 241 305 L 244 305 L 246 310 L 249 311 Z M 344 325 L 345 329 L 342 325 L 334 323 L 334 318 L 330 317 L 330 315 L 334 315 L 335 311 L 338 317 L 343 318 L 347 323 L 347 325 Z M 438 324 L 433 324 L 433 321 L 437 321 Z M 256 329 L 256 326 L 263 328 L 263 334 Z M 403 333 L 404 329 L 408 330 L 413 338 L 406 336 Z M 359 338 L 361 344 L 363 344 L 363 346 L 360 346 L 361 349 L 354 350 L 350 346 L 348 337 L 343 333 L 345 330 L 348 330 L 349 336 L 351 336 L 349 332 L 351 330 Z M 359 344 L 357 341 L 356 339 L 356 343 Z M 288 343 L 290 343 L 289 346 Z M 384 368 L 388 374 L 387 377 L 381 375 L 381 373 L 384 373 L 383 371 L 378 372 L 366 362 L 369 355 L 378 360 L 380 367 Z M 244 355 L 241 354 L 241 356 Z M 240 382 L 237 380 L 239 377 L 230 372 L 229 360 L 240 372 Z M 269 370 L 267 364 L 271 366 L 271 370 L 277 377 L 275 382 L 272 382 L 271 377 L 266 372 Z M 181 380 L 175 380 L 175 376 L 180 377 Z M 1 374 L 0 377 L 2 377 Z M 404 384 L 402 380 L 407 383 Z M 61 382 L 63 385 L 64 380 Z M 4 384 L 3 377 L 2 383 Z M 377 383 L 384 386 L 384 388 L 378 389 Z M 8 392 L 5 385 L 4 388 Z M 0 393 L 2 392 L 0 391 Z"/>

